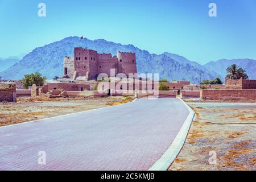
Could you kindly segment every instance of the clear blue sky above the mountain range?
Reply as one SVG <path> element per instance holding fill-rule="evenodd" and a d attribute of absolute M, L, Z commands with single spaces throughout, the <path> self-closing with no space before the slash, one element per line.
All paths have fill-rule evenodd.
<path fill-rule="evenodd" d="M 40 2 L 46 17 L 38 16 Z M 255 0 L 0 0 L 0 26 L 0 57 L 83 35 L 201 64 L 256 59 Z"/>

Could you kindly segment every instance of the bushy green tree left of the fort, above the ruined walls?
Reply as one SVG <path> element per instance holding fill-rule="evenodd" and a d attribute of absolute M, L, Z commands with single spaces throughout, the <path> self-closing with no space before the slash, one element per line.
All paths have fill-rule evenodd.
<path fill-rule="evenodd" d="M 24 75 L 22 79 L 22 85 L 24 89 L 28 89 L 28 86 L 35 84 L 36 86 L 43 86 L 46 82 L 46 77 L 43 77 L 40 73 L 31 73 Z"/>

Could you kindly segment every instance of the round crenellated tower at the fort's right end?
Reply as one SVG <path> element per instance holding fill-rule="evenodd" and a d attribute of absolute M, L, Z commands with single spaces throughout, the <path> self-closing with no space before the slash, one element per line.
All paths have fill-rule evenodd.
<path fill-rule="evenodd" d="M 137 73 L 136 56 L 134 52 L 117 52 L 118 73 Z"/>

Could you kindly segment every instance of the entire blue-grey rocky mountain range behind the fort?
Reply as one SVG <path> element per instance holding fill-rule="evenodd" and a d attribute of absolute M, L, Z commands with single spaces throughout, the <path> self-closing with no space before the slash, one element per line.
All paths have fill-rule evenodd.
<path fill-rule="evenodd" d="M 99 53 L 110 52 L 112 55 L 116 55 L 117 51 L 135 52 L 139 73 L 159 73 L 160 78 L 168 78 L 169 80 L 190 80 L 192 83 L 197 84 L 200 80 L 199 73 L 201 73 L 201 80 L 213 79 L 214 77 L 220 77 L 224 80 L 225 68 L 233 63 L 239 63 L 238 65 L 241 65 L 246 70 L 250 78 L 255 78 L 255 60 L 220 60 L 201 65 L 185 57 L 168 52 L 156 55 L 134 47 L 131 44 L 122 45 L 108 42 L 104 39 L 80 39 L 76 36 L 35 48 L 18 63 L 0 72 L 0 76 L 12 80 L 21 79 L 27 73 L 34 72 L 40 72 L 49 79 L 55 76 L 62 76 L 63 57 L 73 56 L 74 47 L 95 49 Z"/>

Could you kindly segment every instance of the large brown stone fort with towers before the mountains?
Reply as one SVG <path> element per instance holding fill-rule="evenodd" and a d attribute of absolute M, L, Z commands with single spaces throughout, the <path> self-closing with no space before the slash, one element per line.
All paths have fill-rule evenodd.
<path fill-rule="evenodd" d="M 137 73 L 136 57 L 133 52 L 98 53 L 92 49 L 75 47 L 74 57 L 64 57 L 64 76 L 73 80 L 96 80 L 98 74 L 110 76 L 110 69 L 115 75 Z"/>

